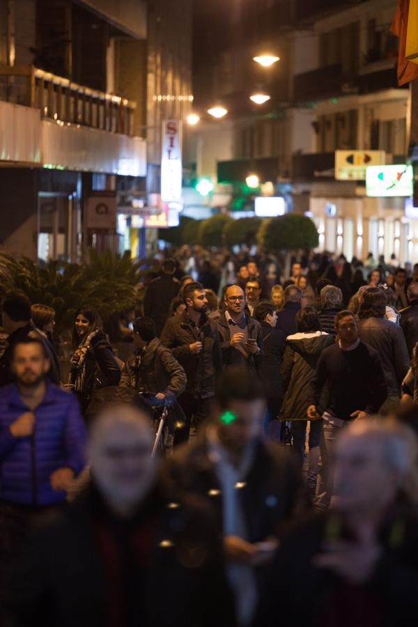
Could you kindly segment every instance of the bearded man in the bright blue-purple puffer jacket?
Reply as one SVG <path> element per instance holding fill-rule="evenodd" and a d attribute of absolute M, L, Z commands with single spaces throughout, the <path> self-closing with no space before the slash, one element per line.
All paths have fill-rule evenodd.
<path fill-rule="evenodd" d="M 42 341 L 15 343 L 11 363 L 16 382 L 0 389 L 1 590 L 29 527 L 65 504 L 86 443 L 77 399 L 47 379 Z"/>

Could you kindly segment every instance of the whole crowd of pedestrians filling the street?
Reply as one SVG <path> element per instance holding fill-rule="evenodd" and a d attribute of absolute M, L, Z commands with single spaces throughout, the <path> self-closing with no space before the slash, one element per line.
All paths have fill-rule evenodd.
<path fill-rule="evenodd" d="M 3 298 L 1 625 L 415 617 L 418 265 L 213 261 L 164 258 L 125 359 Z"/>

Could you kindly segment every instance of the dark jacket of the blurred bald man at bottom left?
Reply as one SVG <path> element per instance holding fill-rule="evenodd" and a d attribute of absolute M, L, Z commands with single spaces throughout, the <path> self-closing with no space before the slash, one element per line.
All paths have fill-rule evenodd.
<path fill-rule="evenodd" d="M 23 627 L 235 626 L 219 534 L 189 498 L 155 491 L 124 521 L 88 488 L 27 561 L 15 590 Z"/>

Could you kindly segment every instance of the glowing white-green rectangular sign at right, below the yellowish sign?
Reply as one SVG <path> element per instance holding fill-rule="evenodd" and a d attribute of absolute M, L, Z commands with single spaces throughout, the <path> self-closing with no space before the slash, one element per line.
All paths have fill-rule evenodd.
<path fill-rule="evenodd" d="M 412 196 L 414 171 L 411 165 L 372 166 L 366 171 L 367 196 Z"/>

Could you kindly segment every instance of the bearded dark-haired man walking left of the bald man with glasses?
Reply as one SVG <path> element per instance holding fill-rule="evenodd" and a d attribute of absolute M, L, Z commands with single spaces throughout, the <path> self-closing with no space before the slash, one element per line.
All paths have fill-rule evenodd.
<path fill-rule="evenodd" d="M 167 320 L 161 343 L 171 349 L 187 376 L 187 387 L 178 397 L 185 422 L 177 426 L 174 445 L 189 439 L 192 417 L 199 428 L 210 414 L 215 380 L 222 371 L 222 353 L 216 323 L 209 320 L 208 299 L 201 283 L 190 283 L 183 290 L 186 309 Z"/>

